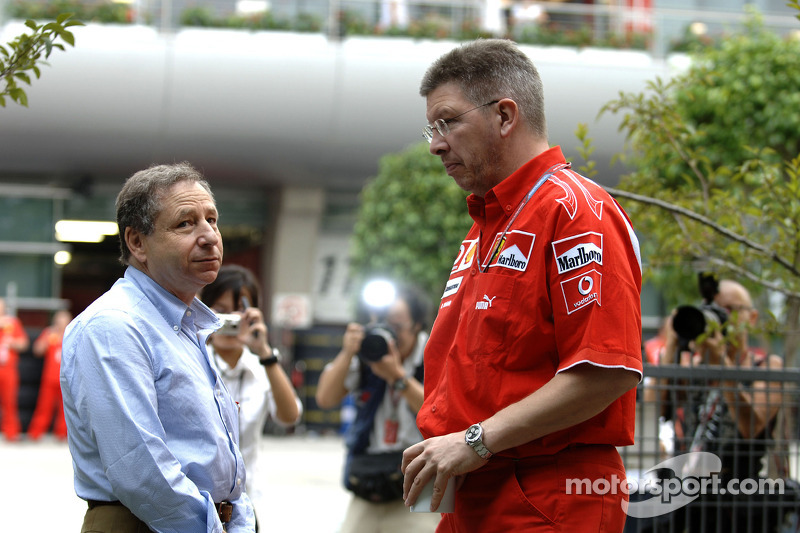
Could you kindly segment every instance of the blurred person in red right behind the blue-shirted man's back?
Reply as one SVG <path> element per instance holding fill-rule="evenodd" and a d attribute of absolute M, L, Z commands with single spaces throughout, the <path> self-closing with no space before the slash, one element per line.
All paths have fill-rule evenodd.
<path fill-rule="evenodd" d="M 60 309 L 53 314 L 49 327 L 33 342 L 33 355 L 44 357 L 42 379 L 39 384 L 39 398 L 36 410 L 28 426 L 28 437 L 39 440 L 53 423 L 53 434 L 59 440 L 67 438 L 67 423 L 64 420 L 64 402 L 61 398 L 61 341 L 72 314 Z M 55 420 L 55 422 L 53 422 Z"/>

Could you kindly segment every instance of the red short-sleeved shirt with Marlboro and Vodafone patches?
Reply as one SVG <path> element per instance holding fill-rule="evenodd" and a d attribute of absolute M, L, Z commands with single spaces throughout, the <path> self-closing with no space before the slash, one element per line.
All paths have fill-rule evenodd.
<path fill-rule="evenodd" d="M 638 242 L 622 208 L 564 166 L 560 148 L 551 148 L 484 198 L 467 199 L 475 223 L 425 348 L 425 402 L 417 424 L 426 438 L 463 431 L 581 363 L 641 376 Z M 548 171 L 555 172 L 498 246 L 521 201 Z M 590 420 L 500 455 L 632 444 L 635 394 L 628 391 Z"/>

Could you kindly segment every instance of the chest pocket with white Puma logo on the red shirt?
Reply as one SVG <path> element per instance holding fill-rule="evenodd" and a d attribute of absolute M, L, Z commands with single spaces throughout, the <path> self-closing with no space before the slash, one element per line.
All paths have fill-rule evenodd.
<path fill-rule="evenodd" d="M 467 353 L 491 355 L 506 344 L 509 322 L 514 319 L 511 298 L 516 280 L 498 274 L 480 274 L 464 306 Z M 468 307 L 467 307 L 468 306 Z"/>

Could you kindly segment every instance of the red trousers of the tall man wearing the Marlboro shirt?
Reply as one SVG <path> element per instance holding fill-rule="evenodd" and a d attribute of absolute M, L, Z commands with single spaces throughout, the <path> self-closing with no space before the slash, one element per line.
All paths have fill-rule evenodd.
<path fill-rule="evenodd" d="M 574 480 L 585 480 L 584 490 Z M 493 457 L 466 476 L 456 491 L 455 512 L 442 515 L 436 532 L 621 533 L 625 480 L 613 446 L 572 447 L 520 460 Z M 597 490 L 585 490 L 592 483 Z"/>

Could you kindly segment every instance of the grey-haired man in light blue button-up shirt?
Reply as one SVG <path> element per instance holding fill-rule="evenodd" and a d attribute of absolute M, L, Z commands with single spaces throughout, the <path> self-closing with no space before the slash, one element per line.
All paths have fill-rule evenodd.
<path fill-rule="evenodd" d="M 195 298 L 222 263 L 211 189 L 188 163 L 153 166 L 116 209 L 128 268 L 62 352 L 82 531 L 252 532 L 236 405 L 205 348 L 219 322 Z"/>

